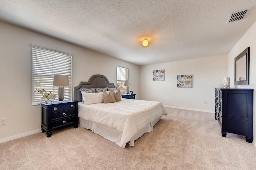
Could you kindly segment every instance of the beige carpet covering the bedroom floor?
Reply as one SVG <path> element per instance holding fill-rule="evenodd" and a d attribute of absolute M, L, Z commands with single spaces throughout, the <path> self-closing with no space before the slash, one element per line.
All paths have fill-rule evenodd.
<path fill-rule="evenodd" d="M 154 131 L 131 148 L 69 126 L 0 144 L 0 169 L 255 170 L 256 148 L 245 137 L 224 138 L 214 113 L 166 108 Z"/>

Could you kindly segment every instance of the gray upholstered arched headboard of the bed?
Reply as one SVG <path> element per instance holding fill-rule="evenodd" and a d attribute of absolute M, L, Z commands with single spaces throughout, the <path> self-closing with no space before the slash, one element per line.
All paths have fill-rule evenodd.
<path fill-rule="evenodd" d="M 80 84 L 76 87 L 74 87 L 74 100 L 79 100 L 82 102 L 82 94 L 80 91 L 80 88 L 104 88 L 104 87 L 110 87 L 110 88 L 117 88 L 114 83 L 110 83 L 108 81 L 108 78 L 106 76 L 96 74 L 91 76 L 88 82 L 80 82 Z"/>

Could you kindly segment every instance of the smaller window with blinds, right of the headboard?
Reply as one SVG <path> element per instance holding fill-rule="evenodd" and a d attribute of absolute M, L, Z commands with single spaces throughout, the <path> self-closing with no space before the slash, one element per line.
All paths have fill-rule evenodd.
<path fill-rule="evenodd" d="M 126 94 L 126 86 L 124 86 L 124 82 L 128 80 L 128 68 L 117 66 L 117 89 L 120 90 L 121 94 Z"/>

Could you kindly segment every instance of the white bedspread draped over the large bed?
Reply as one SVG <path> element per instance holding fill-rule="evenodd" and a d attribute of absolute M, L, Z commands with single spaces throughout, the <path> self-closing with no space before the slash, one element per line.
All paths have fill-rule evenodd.
<path fill-rule="evenodd" d="M 160 102 L 145 100 L 122 98 L 120 102 L 109 104 L 78 103 L 78 117 L 122 132 L 122 145 L 130 141 L 132 136 L 148 123 L 167 114 Z"/>

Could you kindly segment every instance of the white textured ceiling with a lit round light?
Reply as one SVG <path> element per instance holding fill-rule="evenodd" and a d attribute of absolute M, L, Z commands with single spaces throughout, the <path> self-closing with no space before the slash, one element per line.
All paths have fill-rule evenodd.
<path fill-rule="evenodd" d="M 256 21 L 256 0 L 0 0 L 0 20 L 144 65 L 228 54 Z"/>

